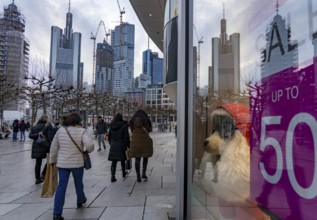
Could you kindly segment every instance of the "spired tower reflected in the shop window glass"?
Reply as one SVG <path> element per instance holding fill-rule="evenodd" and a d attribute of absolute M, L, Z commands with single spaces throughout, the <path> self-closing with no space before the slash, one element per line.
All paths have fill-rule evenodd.
<path fill-rule="evenodd" d="M 240 93 L 240 34 L 227 34 L 225 15 L 220 37 L 212 38 L 212 66 L 209 68 L 209 94 Z"/>

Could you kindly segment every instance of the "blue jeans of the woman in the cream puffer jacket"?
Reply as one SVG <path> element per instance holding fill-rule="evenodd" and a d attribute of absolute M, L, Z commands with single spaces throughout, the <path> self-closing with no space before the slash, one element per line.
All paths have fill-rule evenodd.
<path fill-rule="evenodd" d="M 77 203 L 84 203 L 86 200 L 83 184 L 84 167 L 70 169 L 58 168 L 59 181 L 54 198 L 54 215 L 62 215 L 63 213 L 66 189 L 70 173 L 73 174 L 74 178 Z"/>

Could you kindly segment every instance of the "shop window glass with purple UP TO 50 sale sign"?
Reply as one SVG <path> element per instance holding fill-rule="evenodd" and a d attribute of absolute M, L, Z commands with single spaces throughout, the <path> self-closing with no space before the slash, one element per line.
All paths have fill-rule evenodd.
<path fill-rule="evenodd" d="M 315 218 L 317 3 L 193 12 L 192 219 Z"/>

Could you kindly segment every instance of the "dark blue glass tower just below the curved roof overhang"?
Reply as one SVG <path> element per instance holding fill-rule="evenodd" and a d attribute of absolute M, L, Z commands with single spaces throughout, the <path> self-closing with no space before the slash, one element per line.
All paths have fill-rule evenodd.
<path fill-rule="evenodd" d="M 151 84 L 163 84 L 163 59 L 150 49 L 143 51 L 142 73 L 151 77 Z"/>

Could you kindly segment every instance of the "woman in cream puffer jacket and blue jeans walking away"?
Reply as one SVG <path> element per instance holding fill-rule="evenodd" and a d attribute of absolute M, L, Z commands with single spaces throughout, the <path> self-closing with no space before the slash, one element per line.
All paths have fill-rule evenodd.
<path fill-rule="evenodd" d="M 78 113 L 70 113 L 63 125 L 67 126 L 60 127 L 55 134 L 49 158 L 50 164 L 56 163 L 59 176 L 54 198 L 54 220 L 64 219 L 62 214 L 70 173 L 74 179 L 77 208 L 81 208 L 87 201 L 83 184 L 84 159 L 72 139 L 82 147 L 83 151 L 92 152 L 94 150 L 93 140 L 88 136 L 87 130 L 81 127 L 81 117 Z"/>

